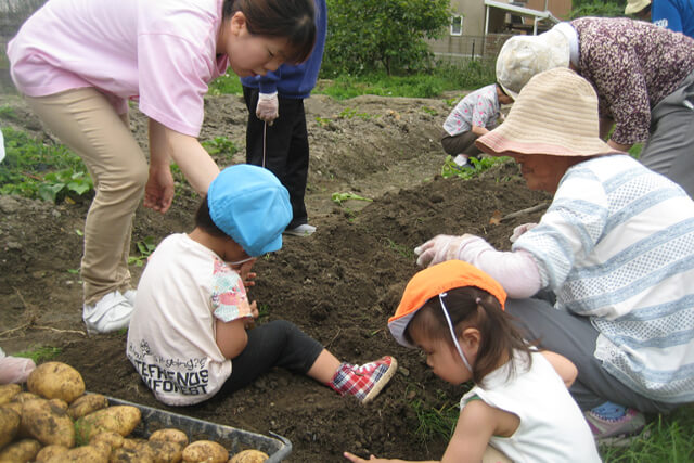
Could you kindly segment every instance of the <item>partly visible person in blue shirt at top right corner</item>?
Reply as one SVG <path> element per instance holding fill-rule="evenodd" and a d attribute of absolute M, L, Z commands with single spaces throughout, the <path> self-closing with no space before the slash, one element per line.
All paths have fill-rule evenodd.
<path fill-rule="evenodd" d="M 694 38 L 694 0 L 629 0 L 625 14 Z"/>

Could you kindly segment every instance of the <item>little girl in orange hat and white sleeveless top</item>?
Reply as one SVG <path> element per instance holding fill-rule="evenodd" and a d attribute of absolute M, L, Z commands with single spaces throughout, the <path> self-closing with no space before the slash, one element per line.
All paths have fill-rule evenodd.
<path fill-rule="evenodd" d="M 567 390 L 576 368 L 557 353 L 529 347 L 504 312 L 505 300 L 503 287 L 487 273 L 449 260 L 415 274 L 388 320 L 396 340 L 422 349 L 441 380 L 474 382 L 441 461 L 509 461 L 497 450 L 513 461 L 600 461 Z M 348 452 L 345 458 L 365 461 Z M 371 455 L 374 461 L 393 460 Z"/>

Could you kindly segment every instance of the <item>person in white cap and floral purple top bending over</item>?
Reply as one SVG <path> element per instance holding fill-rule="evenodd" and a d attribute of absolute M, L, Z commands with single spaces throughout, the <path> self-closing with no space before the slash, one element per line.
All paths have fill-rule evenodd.
<path fill-rule="evenodd" d="M 694 195 L 694 39 L 626 17 L 580 17 L 510 38 L 497 80 L 513 97 L 553 67 L 570 67 L 594 87 L 607 144 L 628 151 L 645 142 L 643 165 Z"/>

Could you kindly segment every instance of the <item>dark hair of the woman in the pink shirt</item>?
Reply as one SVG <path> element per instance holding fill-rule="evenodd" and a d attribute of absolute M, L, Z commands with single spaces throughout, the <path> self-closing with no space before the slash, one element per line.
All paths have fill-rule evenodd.
<path fill-rule="evenodd" d="M 287 62 L 303 63 L 316 43 L 313 0 L 224 0 L 222 18 L 237 11 L 246 17 L 248 31 L 256 36 L 285 38 Z"/>

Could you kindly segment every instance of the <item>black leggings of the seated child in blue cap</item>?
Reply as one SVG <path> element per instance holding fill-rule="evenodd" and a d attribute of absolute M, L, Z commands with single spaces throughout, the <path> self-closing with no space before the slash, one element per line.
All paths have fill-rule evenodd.
<path fill-rule="evenodd" d="M 248 344 L 231 361 L 231 376 L 221 393 L 236 391 L 274 366 L 306 374 L 322 351 L 323 346 L 318 340 L 286 320 L 274 320 L 248 330 Z"/>

